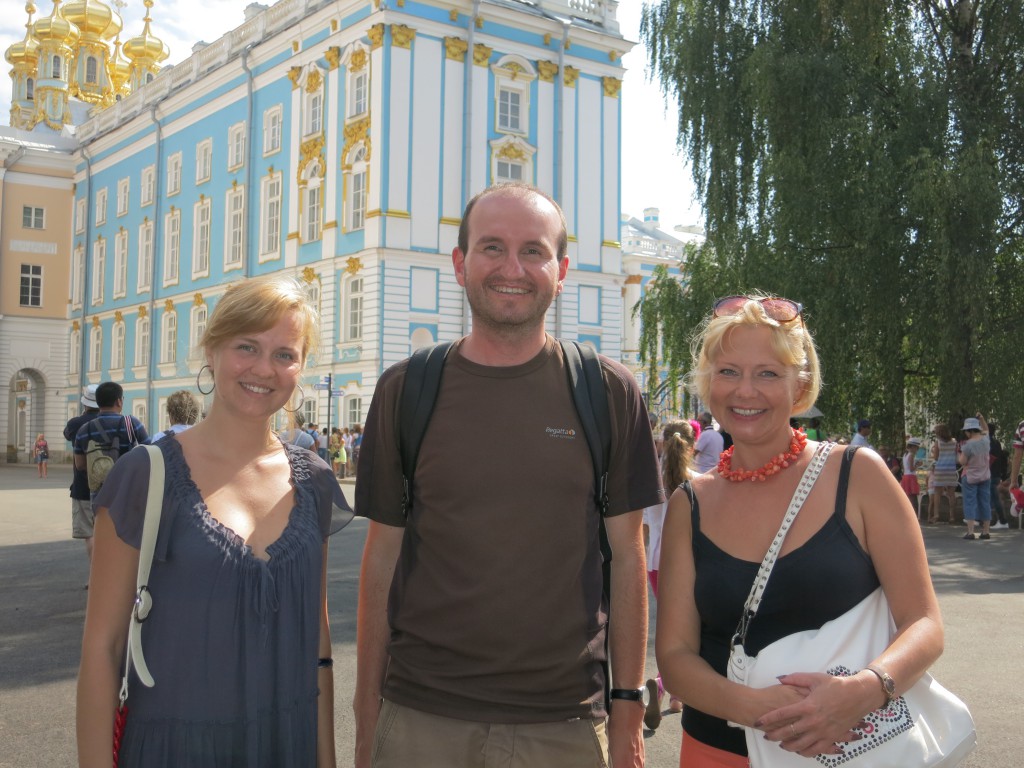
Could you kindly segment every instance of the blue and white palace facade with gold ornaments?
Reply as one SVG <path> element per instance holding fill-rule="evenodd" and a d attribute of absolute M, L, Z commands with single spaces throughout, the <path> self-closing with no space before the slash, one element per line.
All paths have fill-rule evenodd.
<path fill-rule="evenodd" d="M 167 395 L 195 386 L 196 342 L 224 289 L 284 272 L 323 317 L 306 417 L 360 423 L 388 366 L 467 332 L 451 252 L 466 202 L 504 180 L 565 211 L 570 272 L 549 330 L 618 358 L 632 44 L 615 5 L 253 5 L 94 111 L 77 129 L 69 413 L 82 386 L 113 379 L 156 431 Z M 313 388 L 328 375 L 333 397 Z"/>

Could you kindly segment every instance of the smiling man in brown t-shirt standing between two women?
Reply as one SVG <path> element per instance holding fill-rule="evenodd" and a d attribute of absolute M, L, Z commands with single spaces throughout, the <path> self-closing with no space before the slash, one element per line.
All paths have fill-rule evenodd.
<path fill-rule="evenodd" d="M 408 518 L 396 439 L 408 364 L 378 382 L 356 483 L 357 513 L 371 520 L 357 768 L 643 765 L 641 510 L 659 500 L 657 464 L 635 380 L 602 357 L 612 423 L 608 713 L 593 465 L 561 348 L 544 327 L 566 243 L 560 209 L 534 187 L 490 187 L 467 206 L 452 258 L 472 330 L 449 354 Z"/>

